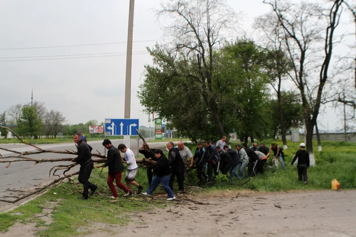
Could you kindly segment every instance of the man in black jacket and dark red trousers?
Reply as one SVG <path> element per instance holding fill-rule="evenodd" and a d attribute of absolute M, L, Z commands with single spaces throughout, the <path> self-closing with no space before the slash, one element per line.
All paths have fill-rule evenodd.
<path fill-rule="evenodd" d="M 123 164 L 120 152 L 114 146 L 112 146 L 111 141 L 109 139 L 105 139 L 103 141 L 103 146 L 108 149 L 107 151 L 107 162 L 103 165 L 103 167 L 109 166 L 109 175 L 107 177 L 107 185 L 109 186 L 113 196 L 110 198 L 118 198 L 117 191 L 113 182 L 115 180 L 116 186 L 124 190 L 126 195 L 129 195 L 130 190 L 121 182 L 121 176 L 125 169 Z"/>

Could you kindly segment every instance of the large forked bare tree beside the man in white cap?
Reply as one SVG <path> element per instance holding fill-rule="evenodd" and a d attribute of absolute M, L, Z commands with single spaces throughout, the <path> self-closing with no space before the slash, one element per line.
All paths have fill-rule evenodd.
<path fill-rule="evenodd" d="M 334 33 L 340 22 L 343 0 L 325 3 L 325 9 L 317 4 L 302 3 L 296 5 L 280 0 L 264 0 L 263 3 L 272 7 L 274 15 L 285 34 L 285 48 L 293 64 L 293 70 L 292 73 L 289 73 L 289 76 L 301 93 L 306 125 L 306 146 L 310 154 L 311 165 L 314 165 L 313 130 L 319 114 L 323 89 L 328 80 L 333 46 L 336 43 Z M 323 45 L 317 89 L 311 95 L 315 96 L 313 99 L 314 106 L 308 99 L 308 86 L 312 84 L 312 79 L 305 74 L 305 65 L 310 60 L 308 53 L 312 51 L 310 49 L 313 44 L 315 48 Z"/>

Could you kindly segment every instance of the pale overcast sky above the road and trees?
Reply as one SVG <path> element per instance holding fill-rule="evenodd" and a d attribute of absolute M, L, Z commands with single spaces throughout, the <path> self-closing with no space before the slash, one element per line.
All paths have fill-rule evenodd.
<path fill-rule="evenodd" d="M 157 22 L 152 11 L 160 2 L 135 1 L 131 118 L 145 126 L 148 115 L 136 95 L 144 65 L 152 63 L 145 47 L 164 42 L 165 22 Z M 244 14 L 241 27 L 251 36 L 254 18 L 270 11 L 262 0 L 227 3 Z M 128 14 L 129 0 L 0 1 L 0 112 L 31 101 L 33 86 L 34 99 L 63 112 L 68 123 L 123 118 Z M 36 48 L 51 46 L 73 47 Z M 337 113 L 327 111 L 319 119 L 320 129 L 335 129 Z"/>

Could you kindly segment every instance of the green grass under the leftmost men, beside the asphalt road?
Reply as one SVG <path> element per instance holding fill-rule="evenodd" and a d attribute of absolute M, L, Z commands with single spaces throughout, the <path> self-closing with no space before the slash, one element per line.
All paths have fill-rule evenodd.
<path fill-rule="evenodd" d="M 7 231 L 16 221 L 20 223 L 36 222 L 36 226 L 44 226 L 45 229 L 37 232 L 39 236 L 85 234 L 86 232 L 78 232 L 78 228 L 90 226 L 94 222 L 127 225 L 130 221 L 128 217 L 130 213 L 132 215 L 132 212 L 135 211 L 163 207 L 167 202 L 163 198 L 155 199 L 155 201 L 146 201 L 137 196 L 123 198 L 123 191 L 121 191 L 117 202 L 111 202 L 112 199 L 109 196 L 112 196 L 112 194 L 106 184 L 107 168 L 104 168 L 101 178 L 99 178 L 100 170 L 101 168 L 93 170 L 90 179 L 91 182 L 99 186 L 94 196 L 90 196 L 87 200 L 79 200 L 82 185 L 77 181 L 53 187 L 35 200 L 11 212 L 0 214 L 0 235 L 1 231 Z M 139 169 L 136 180 L 145 188 L 148 186 L 145 170 Z M 133 190 L 135 189 L 137 187 L 134 186 Z M 163 193 L 164 191 L 158 188 L 156 193 L 159 192 Z M 41 214 L 42 208 L 48 208 L 50 202 L 57 202 L 58 206 L 54 207 L 52 211 L 53 222 L 47 225 L 42 219 L 34 215 Z M 22 213 L 23 215 L 11 215 L 13 213 Z"/>

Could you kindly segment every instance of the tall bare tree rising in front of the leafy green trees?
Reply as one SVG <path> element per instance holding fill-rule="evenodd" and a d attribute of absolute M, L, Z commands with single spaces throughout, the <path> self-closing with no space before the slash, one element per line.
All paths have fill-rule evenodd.
<path fill-rule="evenodd" d="M 167 35 L 175 38 L 170 47 L 172 54 L 195 58 L 199 72 L 185 76 L 201 85 L 204 106 L 214 116 L 220 136 L 226 134 L 212 86 L 213 54 L 224 40 L 223 34 L 231 33 L 237 22 L 235 13 L 225 3 L 222 0 L 169 0 L 162 3 L 158 11 L 159 17 L 172 18 L 171 25 L 165 28 Z"/>

